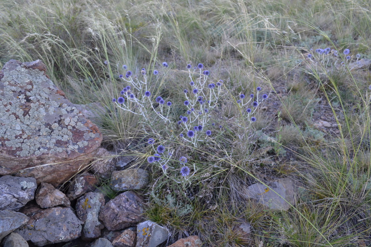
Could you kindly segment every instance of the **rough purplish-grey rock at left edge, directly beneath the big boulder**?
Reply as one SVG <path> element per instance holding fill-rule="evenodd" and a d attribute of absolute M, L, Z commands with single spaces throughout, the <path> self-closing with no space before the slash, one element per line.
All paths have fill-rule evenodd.
<path fill-rule="evenodd" d="M 35 196 L 37 184 L 33 177 L 0 177 L 0 210 L 18 211 Z"/>

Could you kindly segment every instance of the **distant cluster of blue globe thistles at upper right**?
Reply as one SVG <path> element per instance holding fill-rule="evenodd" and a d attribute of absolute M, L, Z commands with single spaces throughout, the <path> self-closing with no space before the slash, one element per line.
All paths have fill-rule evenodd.
<path fill-rule="evenodd" d="M 311 49 L 312 50 L 312 49 Z M 316 66 L 321 63 L 324 68 L 344 68 L 346 64 L 351 63 L 355 59 L 355 64 L 359 64 L 361 55 L 351 54 L 349 49 L 344 49 L 342 54 L 335 49 L 329 47 L 325 49 L 318 48 L 314 53 L 307 54 L 307 58 Z M 353 68 L 350 68 L 353 69 Z"/>

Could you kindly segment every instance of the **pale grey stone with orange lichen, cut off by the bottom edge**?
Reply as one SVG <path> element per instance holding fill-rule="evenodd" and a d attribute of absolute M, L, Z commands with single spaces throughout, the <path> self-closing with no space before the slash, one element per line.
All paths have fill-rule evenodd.
<path fill-rule="evenodd" d="M 136 247 L 156 247 L 167 238 L 166 228 L 150 220 L 141 222 L 137 226 Z"/>

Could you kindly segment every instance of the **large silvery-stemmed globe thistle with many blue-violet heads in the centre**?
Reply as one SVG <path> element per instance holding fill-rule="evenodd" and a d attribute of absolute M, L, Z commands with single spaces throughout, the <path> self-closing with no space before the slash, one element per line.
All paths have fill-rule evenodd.
<path fill-rule="evenodd" d="M 162 66 L 168 67 L 166 62 Z M 154 86 L 148 81 L 147 71 L 142 69 L 141 75 L 134 76 L 127 66 L 122 66 L 126 71 L 125 76 L 119 78 L 124 82 L 117 99 L 112 102 L 119 109 L 141 115 L 142 131 L 145 133 L 148 144 L 147 162 L 158 166 L 164 175 L 177 183 L 190 181 L 197 172 L 195 163 L 197 152 L 203 146 L 216 143 L 216 137 L 223 134 L 223 126 L 217 123 L 221 98 L 226 95 L 223 80 L 213 81 L 210 71 L 204 70 L 203 64 L 196 67 L 190 64 L 188 70 L 188 85 L 184 84 L 182 92 L 184 100 L 181 107 L 184 114 L 175 116 L 171 99 L 164 99 L 161 95 L 154 95 Z M 185 71 L 183 71 L 185 72 Z M 159 76 L 159 71 L 152 73 Z M 187 88 L 187 89 L 186 89 Z M 254 116 L 258 106 L 267 99 L 267 94 L 260 93 L 257 87 L 256 94 L 245 96 L 243 93 L 234 96 L 236 103 L 243 109 L 244 124 L 238 124 L 248 132 L 251 123 L 257 121 Z M 162 134 L 159 134 L 162 133 Z M 188 151 L 182 153 L 181 146 L 187 146 Z"/>

